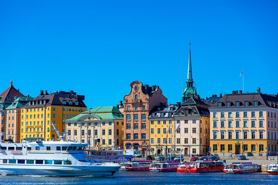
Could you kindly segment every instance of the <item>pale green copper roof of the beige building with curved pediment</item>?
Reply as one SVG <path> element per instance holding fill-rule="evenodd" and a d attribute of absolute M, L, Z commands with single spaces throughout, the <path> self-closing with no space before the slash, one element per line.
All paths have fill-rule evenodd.
<path fill-rule="evenodd" d="M 93 109 L 89 109 L 85 112 L 82 112 L 81 114 L 67 119 L 66 121 L 77 121 L 81 116 L 84 115 L 94 115 L 100 120 L 111 120 L 111 119 L 120 119 L 123 120 L 123 114 L 117 109 L 115 106 L 101 106 L 101 107 L 95 107 Z"/>

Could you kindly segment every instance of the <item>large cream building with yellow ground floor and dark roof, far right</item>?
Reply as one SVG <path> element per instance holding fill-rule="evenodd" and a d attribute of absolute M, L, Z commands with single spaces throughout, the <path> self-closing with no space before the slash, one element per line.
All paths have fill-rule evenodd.
<path fill-rule="evenodd" d="M 209 107 L 211 153 L 275 154 L 278 142 L 278 96 L 233 91 Z"/>

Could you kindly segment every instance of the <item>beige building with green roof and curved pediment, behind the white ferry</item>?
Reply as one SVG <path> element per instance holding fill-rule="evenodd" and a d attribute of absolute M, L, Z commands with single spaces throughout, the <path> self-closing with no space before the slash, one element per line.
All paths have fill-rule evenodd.
<path fill-rule="evenodd" d="M 65 120 L 66 139 L 95 149 L 123 149 L 123 114 L 115 106 L 95 107 Z"/>

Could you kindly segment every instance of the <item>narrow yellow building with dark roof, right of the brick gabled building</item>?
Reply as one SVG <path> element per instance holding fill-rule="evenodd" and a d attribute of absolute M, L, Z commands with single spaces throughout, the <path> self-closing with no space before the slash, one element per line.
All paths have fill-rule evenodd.
<path fill-rule="evenodd" d="M 149 114 L 149 150 L 151 154 L 169 156 L 175 152 L 174 114 L 178 105 L 161 102 L 153 107 Z M 169 129 L 170 126 L 170 129 Z M 171 151 L 172 149 L 172 151 Z"/>

